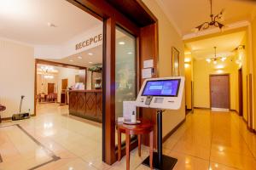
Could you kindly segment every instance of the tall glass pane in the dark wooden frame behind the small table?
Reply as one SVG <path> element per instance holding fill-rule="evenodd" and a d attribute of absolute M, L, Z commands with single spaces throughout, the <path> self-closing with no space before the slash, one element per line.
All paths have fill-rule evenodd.
<path fill-rule="evenodd" d="M 123 116 L 123 101 L 136 100 L 136 37 L 116 27 L 115 118 Z"/>

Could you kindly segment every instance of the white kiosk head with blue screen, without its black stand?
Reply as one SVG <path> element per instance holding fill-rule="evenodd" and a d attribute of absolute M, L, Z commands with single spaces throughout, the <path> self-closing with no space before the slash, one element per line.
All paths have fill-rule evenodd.
<path fill-rule="evenodd" d="M 137 106 L 177 110 L 183 97 L 184 77 L 150 78 L 143 82 Z"/>

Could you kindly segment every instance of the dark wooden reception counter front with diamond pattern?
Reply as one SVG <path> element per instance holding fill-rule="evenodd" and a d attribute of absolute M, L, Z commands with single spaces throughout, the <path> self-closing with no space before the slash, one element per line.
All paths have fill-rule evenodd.
<path fill-rule="evenodd" d="M 69 90 L 69 114 L 102 122 L 102 90 Z"/>

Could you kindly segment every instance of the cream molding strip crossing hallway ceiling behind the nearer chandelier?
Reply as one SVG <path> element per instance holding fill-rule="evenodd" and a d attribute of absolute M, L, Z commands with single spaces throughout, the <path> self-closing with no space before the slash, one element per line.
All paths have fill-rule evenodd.
<path fill-rule="evenodd" d="M 233 29 L 250 26 L 250 25 L 251 25 L 251 23 L 248 20 L 241 20 L 241 21 L 234 22 L 232 24 L 224 26 L 224 31 L 230 31 Z M 214 34 L 214 33 L 218 33 L 218 32 L 221 32 L 221 30 L 219 30 L 218 28 L 212 28 L 212 29 L 208 29 L 205 31 L 198 31 L 198 32 L 186 34 L 183 36 L 183 41 L 189 40 L 189 39 L 192 39 L 195 37 L 207 36 L 209 34 Z"/>

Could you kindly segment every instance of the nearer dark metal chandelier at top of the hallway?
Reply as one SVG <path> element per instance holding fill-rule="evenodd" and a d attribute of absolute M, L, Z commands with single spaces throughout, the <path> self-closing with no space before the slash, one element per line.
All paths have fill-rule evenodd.
<path fill-rule="evenodd" d="M 208 22 L 202 23 L 200 26 L 195 27 L 195 31 L 201 31 L 201 30 L 207 30 L 210 26 L 218 27 L 220 30 L 224 27 L 224 24 L 221 24 L 218 20 L 221 20 L 224 15 L 224 9 L 220 11 L 220 13 L 213 15 L 212 14 L 212 0 L 210 0 L 211 3 L 211 20 Z"/>

